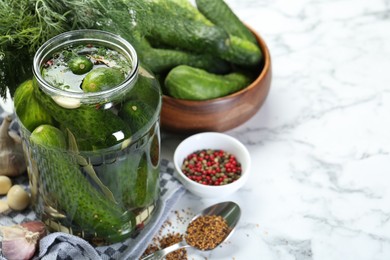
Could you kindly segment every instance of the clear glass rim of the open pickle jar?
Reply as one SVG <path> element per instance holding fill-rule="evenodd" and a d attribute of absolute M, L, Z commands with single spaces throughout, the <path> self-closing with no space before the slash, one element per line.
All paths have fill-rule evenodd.
<path fill-rule="evenodd" d="M 44 64 L 45 59 L 50 58 L 50 55 L 59 49 L 75 43 L 94 42 L 102 44 L 106 47 L 114 47 L 116 50 L 120 50 L 122 54 L 126 56 L 131 62 L 131 71 L 126 79 L 116 87 L 99 91 L 99 92 L 71 92 L 63 89 L 59 89 L 50 85 L 41 74 L 41 66 Z M 67 99 L 72 99 L 78 103 L 95 104 L 108 102 L 115 97 L 121 96 L 127 92 L 135 84 L 138 76 L 139 60 L 137 52 L 134 47 L 121 36 L 95 29 L 80 29 L 64 32 L 54 36 L 46 41 L 35 53 L 33 59 L 33 74 L 36 80 L 41 86 L 41 89 L 53 96 L 61 96 Z"/>

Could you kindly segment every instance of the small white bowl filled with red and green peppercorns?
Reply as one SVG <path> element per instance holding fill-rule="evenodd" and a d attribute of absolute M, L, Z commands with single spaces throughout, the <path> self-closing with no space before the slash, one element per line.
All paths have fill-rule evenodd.
<path fill-rule="evenodd" d="M 250 174 L 251 158 L 236 138 L 218 132 L 204 132 L 183 140 L 173 162 L 179 181 L 202 198 L 232 194 Z"/>

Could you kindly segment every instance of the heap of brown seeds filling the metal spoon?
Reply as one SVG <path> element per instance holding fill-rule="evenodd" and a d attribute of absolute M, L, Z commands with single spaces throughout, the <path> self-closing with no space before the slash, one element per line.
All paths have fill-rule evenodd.
<path fill-rule="evenodd" d="M 185 240 L 200 250 L 210 250 L 216 248 L 229 232 L 229 226 L 221 216 L 200 216 L 188 225 Z"/>

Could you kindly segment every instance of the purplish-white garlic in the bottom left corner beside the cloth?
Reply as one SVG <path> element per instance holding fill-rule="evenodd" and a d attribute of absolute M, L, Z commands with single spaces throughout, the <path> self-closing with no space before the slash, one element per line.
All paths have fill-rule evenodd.
<path fill-rule="evenodd" d="M 40 221 L 26 222 L 21 225 L 2 226 L 2 253 L 8 260 L 31 259 L 38 246 L 39 239 L 45 234 L 45 226 Z"/>

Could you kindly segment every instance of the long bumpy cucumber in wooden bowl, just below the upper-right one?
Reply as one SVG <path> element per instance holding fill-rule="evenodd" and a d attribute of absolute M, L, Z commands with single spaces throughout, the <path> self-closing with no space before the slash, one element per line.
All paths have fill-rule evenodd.
<path fill-rule="evenodd" d="M 201 19 L 189 19 L 188 17 L 194 17 L 192 11 L 174 1 L 154 0 L 147 1 L 146 4 L 148 8 L 134 8 L 140 19 L 152 15 L 153 19 L 149 19 L 150 23 L 144 25 L 143 32 L 153 41 L 182 50 L 216 55 L 238 65 L 255 65 L 261 59 L 257 51 L 246 48 L 249 43 L 253 45 L 252 42 L 235 46 L 236 42 L 230 40 L 223 28 Z M 237 49 L 240 51 L 236 52 Z M 227 51 L 229 55 L 225 55 Z"/>

